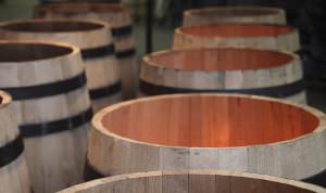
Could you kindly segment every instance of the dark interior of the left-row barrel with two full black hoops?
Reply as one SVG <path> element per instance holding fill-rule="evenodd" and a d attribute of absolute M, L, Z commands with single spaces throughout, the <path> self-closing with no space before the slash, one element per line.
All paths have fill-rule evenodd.
<path fill-rule="evenodd" d="M 46 60 L 67 55 L 73 49 L 42 43 L 0 43 L 0 63 Z"/>

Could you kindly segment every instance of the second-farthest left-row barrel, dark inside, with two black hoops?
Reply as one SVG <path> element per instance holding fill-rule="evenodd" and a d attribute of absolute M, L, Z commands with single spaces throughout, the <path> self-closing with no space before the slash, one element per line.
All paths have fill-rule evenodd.
<path fill-rule="evenodd" d="M 110 27 L 95 21 L 26 20 L 0 25 L 11 40 L 62 41 L 77 46 L 86 64 L 93 112 L 122 101 L 121 74 Z"/>

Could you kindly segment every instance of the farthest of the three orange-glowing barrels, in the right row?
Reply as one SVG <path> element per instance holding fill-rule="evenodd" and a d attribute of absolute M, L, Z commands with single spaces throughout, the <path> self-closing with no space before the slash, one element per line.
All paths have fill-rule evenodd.
<path fill-rule="evenodd" d="M 246 47 L 300 51 L 298 31 L 280 25 L 218 24 L 176 29 L 174 48 Z"/>

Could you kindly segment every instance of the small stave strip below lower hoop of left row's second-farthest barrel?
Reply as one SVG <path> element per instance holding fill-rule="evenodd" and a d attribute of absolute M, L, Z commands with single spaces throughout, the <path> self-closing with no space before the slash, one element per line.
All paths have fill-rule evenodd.
<path fill-rule="evenodd" d="M 108 98 L 99 99 L 99 100 L 92 100 L 91 101 L 91 107 L 92 112 L 97 113 L 100 110 L 110 106 L 115 103 L 120 103 L 122 101 L 122 92 L 117 92 L 113 95 L 110 95 Z"/>

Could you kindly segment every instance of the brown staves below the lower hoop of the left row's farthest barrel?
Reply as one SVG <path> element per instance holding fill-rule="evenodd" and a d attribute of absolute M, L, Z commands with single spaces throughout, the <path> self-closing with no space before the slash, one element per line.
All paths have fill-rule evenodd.
<path fill-rule="evenodd" d="M 120 59 L 123 100 L 136 98 L 138 89 L 139 65 L 135 56 Z"/>

